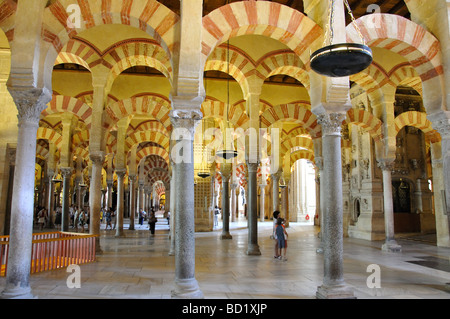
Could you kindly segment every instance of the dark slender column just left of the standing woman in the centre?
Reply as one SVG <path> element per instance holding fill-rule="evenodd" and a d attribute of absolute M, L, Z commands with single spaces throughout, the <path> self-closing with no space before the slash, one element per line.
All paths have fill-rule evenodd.
<path fill-rule="evenodd" d="M 248 248 L 247 255 L 261 255 L 258 246 L 258 163 L 247 162 L 248 170 Z"/>

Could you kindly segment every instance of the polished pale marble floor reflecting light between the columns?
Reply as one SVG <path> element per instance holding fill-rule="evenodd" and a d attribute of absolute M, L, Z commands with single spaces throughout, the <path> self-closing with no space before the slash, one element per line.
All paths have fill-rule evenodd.
<path fill-rule="evenodd" d="M 102 226 L 104 228 L 104 225 Z M 127 224 L 125 224 L 127 229 Z M 247 256 L 246 221 L 231 223 L 231 240 L 221 240 L 220 227 L 196 233 L 196 278 L 207 299 L 314 299 L 323 279 L 318 228 L 291 223 L 287 261 L 273 258 L 271 222 L 258 224 L 261 256 Z M 174 257 L 169 256 L 168 225 L 158 223 L 152 236 L 147 224 L 126 230 L 126 238 L 101 231 L 103 254 L 81 265 L 81 287 L 68 288 L 65 269 L 34 274 L 30 283 L 39 299 L 165 299 L 174 282 Z M 381 251 L 381 242 L 344 239 L 344 278 L 358 299 L 450 299 L 450 249 L 400 238 L 401 253 Z M 380 288 L 369 288 L 368 266 L 380 268 Z M 5 278 L 0 278 L 3 290 Z"/>

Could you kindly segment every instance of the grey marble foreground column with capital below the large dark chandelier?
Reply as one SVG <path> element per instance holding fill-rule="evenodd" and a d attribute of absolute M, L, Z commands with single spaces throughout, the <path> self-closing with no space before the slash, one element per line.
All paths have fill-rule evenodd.
<path fill-rule="evenodd" d="M 341 164 L 341 125 L 345 114 L 331 113 L 318 116 L 323 140 L 323 186 L 325 216 L 322 236 L 324 246 L 324 278 L 316 292 L 317 298 L 354 298 L 344 281 L 343 268 L 343 198 Z"/>

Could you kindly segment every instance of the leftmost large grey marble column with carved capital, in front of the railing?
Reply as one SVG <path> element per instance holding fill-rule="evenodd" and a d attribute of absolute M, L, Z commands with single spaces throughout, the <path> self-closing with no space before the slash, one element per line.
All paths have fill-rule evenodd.
<path fill-rule="evenodd" d="M 36 134 L 41 112 L 50 102 L 52 95 L 47 89 L 9 88 L 9 91 L 18 109 L 19 124 L 6 285 L 1 298 L 33 298 L 29 279 L 33 235 Z"/>

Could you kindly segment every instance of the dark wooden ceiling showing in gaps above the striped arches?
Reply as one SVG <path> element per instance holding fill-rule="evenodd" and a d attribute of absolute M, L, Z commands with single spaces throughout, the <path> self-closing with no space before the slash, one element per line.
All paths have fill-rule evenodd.
<path fill-rule="evenodd" d="M 242 0 L 204 0 L 203 1 L 203 15 L 207 15 L 211 11 L 226 5 L 227 3 L 237 2 Z M 303 12 L 303 0 L 270 0 L 283 5 L 287 5 L 295 10 Z M 180 14 L 180 0 L 159 0 L 166 7 Z M 348 0 L 350 8 L 353 11 L 355 18 L 359 18 L 365 14 L 372 13 L 369 9 L 370 5 L 378 5 L 380 13 L 391 13 L 410 18 L 408 8 L 403 0 Z"/>

